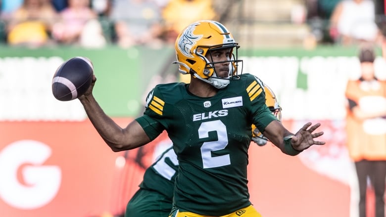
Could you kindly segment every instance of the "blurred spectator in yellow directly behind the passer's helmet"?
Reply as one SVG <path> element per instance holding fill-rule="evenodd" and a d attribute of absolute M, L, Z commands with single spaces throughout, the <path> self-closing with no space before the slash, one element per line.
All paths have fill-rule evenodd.
<path fill-rule="evenodd" d="M 178 33 L 196 20 L 215 20 L 212 0 L 170 0 L 162 10 L 166 41 L 174 43 Z"/>

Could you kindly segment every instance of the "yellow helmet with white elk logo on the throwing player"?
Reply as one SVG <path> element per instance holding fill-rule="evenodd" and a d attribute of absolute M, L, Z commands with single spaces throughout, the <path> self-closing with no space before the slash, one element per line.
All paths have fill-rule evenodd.
<path fill-rule="evenodd" d="M 211 84 L 216 88 L 224 88 L 230 79 L 239 79 L 238 65 L 242 60 L 237 59 L 240 46 L 235 42 L 232 34 L 225 26 L 217 21 L 201 20 L 186 27 L 176 39 L 175 49 L 179 72 L 193 74 L 195 78 Z M 229 58 L 229 76 L 221 78 L 214 69 L 215 63 L 205 57 L 208 51 L 216 49 L 231 49 Z M 236 48 L 236 54 L 234 54 Z M 242 71 L 242 67 L 241 67 Z M 241 72 L 240 72 L 241 74 Z"/>

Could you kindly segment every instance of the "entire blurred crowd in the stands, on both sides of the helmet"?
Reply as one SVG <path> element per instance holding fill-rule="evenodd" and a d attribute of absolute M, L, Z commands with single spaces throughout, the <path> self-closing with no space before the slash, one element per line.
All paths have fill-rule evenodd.
<path fill-rule="evenodd" d="M 316 43 L 383 40 L 376 8 L 384 5 L 378 0 L 298 1 Z M 174 43 L 194 20 L 223 22 L 213 0 L 0 0 L 0 5 L 0 43 L 13 46 L 160 46 Z"/>

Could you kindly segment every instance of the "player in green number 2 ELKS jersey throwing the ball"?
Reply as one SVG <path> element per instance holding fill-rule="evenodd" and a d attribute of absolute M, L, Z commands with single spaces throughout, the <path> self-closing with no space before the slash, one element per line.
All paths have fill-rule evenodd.
<path fill-rule="evenodd" d="M 287 130 L 265 104 L 264 85 L 241 73 L 239 44 L 221 23 L 197 21 L 176 39 L 179 71 L 190 84 L 155 86 L 144 115 L 121 128 L 93 96 L 96 78 L 80 102 L 113 151 L 145 145 L 166 130 L 179 163 L 171 217 L 260 217 L 249 200 L 246 169 L 251 125 L 287 155 L 297 155 L 323 134 L 320 123 Z"/>

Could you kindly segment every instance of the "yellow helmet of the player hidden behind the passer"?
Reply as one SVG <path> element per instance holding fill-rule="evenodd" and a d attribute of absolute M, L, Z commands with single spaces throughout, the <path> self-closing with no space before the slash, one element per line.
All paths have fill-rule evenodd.
<path fill-rule="evenodd" d="M 282 121 L 282 107 L 280 107 L 278 100 L 276 99 L 275 93 L 267 85 L 264 86 L 265 89 L 265 104 L 271 110 L 272 114 L 281 122 Z M 255 125 L 252 124 L 252 141 L 254 141 L 259 146 L 267 144 L 268 138 L 265 137 Z"/>

